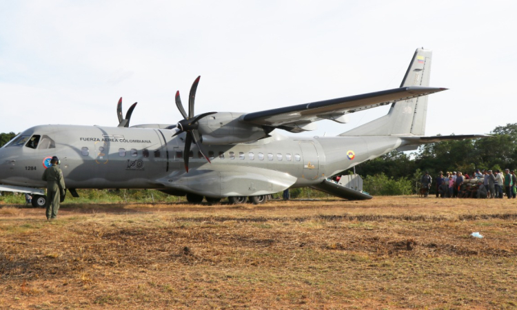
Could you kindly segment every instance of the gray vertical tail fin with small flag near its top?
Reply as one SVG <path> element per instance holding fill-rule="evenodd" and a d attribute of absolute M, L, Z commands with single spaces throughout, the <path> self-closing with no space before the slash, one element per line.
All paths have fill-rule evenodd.
<path fill-rule="evenodd" d="M 429 86 L 432 51 L 417 48 L 407 68 L 401 87 Z M 387 136 L 392 134 L 425 134 L 427 96 L 392 104 L 387 115 L 356 127 L 340 136 Z"/>

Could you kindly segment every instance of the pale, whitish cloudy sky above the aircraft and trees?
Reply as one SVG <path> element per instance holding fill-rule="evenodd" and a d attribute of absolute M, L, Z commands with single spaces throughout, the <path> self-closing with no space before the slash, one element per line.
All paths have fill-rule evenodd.
<path fill-rule="evenodd" d="M 416 48 L 433 50 L 425 134 L 517 123 L 517 1 L 1 1 L 0 132 L 34 125 L 175 124 L 399 87 Z M 349 123 L 318 121 L 305 136 Z M 287 134 L 287 133 L 286 133 Z"/>

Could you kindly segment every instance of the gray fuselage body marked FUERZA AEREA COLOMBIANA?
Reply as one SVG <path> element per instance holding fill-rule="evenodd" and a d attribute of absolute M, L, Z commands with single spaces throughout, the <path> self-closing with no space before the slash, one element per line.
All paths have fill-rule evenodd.
<path fill-rule="evenodd" d="M 45 158 L 58 156 L 68 188 L 168 189 L 183 192 L 229 196 L 224 187 L 226 175 L 250 174 L 252 194 L 274 192 L 283 187 L 305 187 L 358 163 L 376 158 L 401 146 L 396 136 L 287 137 L 272 133 L 252 143 L 205 145 L 212 163 L 199 156 L 192 145 L 190 172 L 183 164 L 185 134 L 172 138 L 170 130 L 150 128 L 101 127 L 78 125 L 40 125 L 19 136 L 38 135 L 40 143 L 32 148 L 10 143 L 0 149 L 0 183 L 26 187 L 44 187 L 41 175 Z M 45 140 L 46 139 L 46 140 Z M 185 183 L 192 176 L 207 176 L 206 185 Z M 216 178 L 213 177 L 217 172 Z M 253 182 L 253 175 L 264 176 L 277 187 Z M 230 179 L 228 179 L 230 180 Z M 196 181 L 200 183 L 199 181 Z M 221 183 L 219 185 L 210 185 Z M 240 183 L 239 183 L 240 182 Z M 267 183 L 267 182 L 265 182 Z M 230 183 L 228 183 L 230 184 Z M 192 185 L 192 186 L 191 186 Z M 197 186 L 197 187 L 196 187 Z M 203 186 L 214 187 L 205 192 Z M 256 187 L 266 186 L 261 190 Z M 215 194 L 213 194 L 215 193 Z"/>

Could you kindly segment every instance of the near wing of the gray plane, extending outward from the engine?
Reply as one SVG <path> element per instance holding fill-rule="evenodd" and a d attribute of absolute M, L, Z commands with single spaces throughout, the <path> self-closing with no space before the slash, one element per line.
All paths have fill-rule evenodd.
<path fill-rule="evenodd" d="M 343 98 L 292 105 L 290 107 L 279 107 L 277 109 L 265 110 L 244 114 L 242 121 L 256 125 L 265 125 L 290 132 L 303 132 L 313 130 L 307 126 L 312 122 L 321 119 L 330 119 L 338 123 L 345 123 L 345 114 L 367 110 L 372 107 L 388 105 L 396 101 L 412 99 L 435 92 L 441 92 L 447 88 L 409 86 L 383 90 L 381 92 L 370 92 Z"/>

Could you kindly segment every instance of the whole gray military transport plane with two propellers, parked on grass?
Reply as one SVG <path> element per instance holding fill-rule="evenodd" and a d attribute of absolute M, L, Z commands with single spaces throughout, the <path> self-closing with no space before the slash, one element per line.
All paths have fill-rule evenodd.
<path fill-rule="evenodd" d="M 0 149 L 0 191 L 28 192 L 45 205 L 41 180 L 50 158 L 61 159 L 66 185 L 76 189 L 158 189 L 187 196 L 191 203 L 228 198 L 230 203 L 263 203 L 290 187 L 314 187 L 341 198 L 371 198 L 327 178 L 393 149 L 485 135 L 424 136 L 432 52 L 418 48 L 401 87 L 369 94 L 304 103 L 253 113 L 194 114 L 199 77 L 190 90 L 188 112 L 176 92 L 183 120 L 176 125 L 129 127 L 134 105 L 118 127 L 39 125 Z M 284 136 L 314 130 L 314 122 L 344 123 L 347 114 L 391 105 L 387 115 L 334 137 Z"/>

